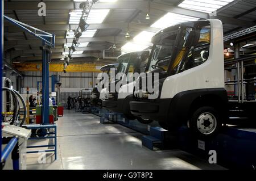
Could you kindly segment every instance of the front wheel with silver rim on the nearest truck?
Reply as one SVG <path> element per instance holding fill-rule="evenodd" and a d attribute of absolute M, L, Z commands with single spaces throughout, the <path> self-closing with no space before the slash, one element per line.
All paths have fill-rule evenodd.
<path fill-rule="evenodd" d="M 189 125 L 199 136 L 213 136 L 221 127 L 220 114 L 213 107 L 201 107 L 193 113 Z"/>

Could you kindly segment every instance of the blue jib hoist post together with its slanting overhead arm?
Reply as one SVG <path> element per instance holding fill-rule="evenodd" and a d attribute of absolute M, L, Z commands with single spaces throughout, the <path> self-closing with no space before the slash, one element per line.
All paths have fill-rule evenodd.
<path fill-rule="evenodd" d="M 3 11 L 2 11 L 3 13 Z M 38 28 L 29 26 L 19 22 L 13 18 L 3 15 L 3 17 L 14 24 L 42 40 L 42 124 L 49 124 L 49 61 L 51 60 L 51 48 L 55 47 L 55 35 L 39 30 Z M 3 28 L 3 26 L 2 26 Z M 29 30 L 30 28 L 31 30 Z M 38 33 L 39 32 L 39 33 Z"/>

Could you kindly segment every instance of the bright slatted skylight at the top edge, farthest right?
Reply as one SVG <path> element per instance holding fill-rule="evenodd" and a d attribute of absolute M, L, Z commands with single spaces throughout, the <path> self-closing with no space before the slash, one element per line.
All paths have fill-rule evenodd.
<path fill-rule="evenodd" d="M 234 0 L 185 0 L 181 2 L 178 6 L 189 10 L 211 13 L 225 5 L 228 5 L 228 3 L 232 1 Z"/>

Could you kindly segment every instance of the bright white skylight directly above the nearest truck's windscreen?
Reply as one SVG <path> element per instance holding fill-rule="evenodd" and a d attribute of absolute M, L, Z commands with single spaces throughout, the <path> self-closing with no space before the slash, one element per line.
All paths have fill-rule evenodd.
<path fill-rule="evenodd" d="M 168 12 L 166 15 L 164 15 L 162 18 L 160 18 L 154 24 L 152 24 L 151 27 L 163 29 L 178 23 L 196 21 L 196 20 L 199 20 L 199 18 L 193 18 L 191 16 L 185 16 L 185 15 Z"/>

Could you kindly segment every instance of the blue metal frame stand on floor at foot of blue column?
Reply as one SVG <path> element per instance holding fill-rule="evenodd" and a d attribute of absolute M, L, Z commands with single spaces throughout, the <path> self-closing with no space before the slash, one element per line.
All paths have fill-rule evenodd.
<path fill-rule="evenodd" d="M 27 129 L 51 129 L 53 128 L 53 132 L 46 133 L 46 137 L 30 137 L 28 140 L 44 140 L 44 139 L 54 139 L 54 143 L 52 145 L 36 145 L 36 146 L 27 146 L 27 149 L 30 148 L 45 148 L 45 147 L 54 147 L 54 149 L 40 150 L 45 152 L 54 152 L 55 160 L 57 159 L 57 126 L 56 124 L 30 124 L 26 125 Z M 53 136 L 52 136 L 53 135 Z M 39 153 L 39 151 L 27 151 L 27 153 Z"/>

